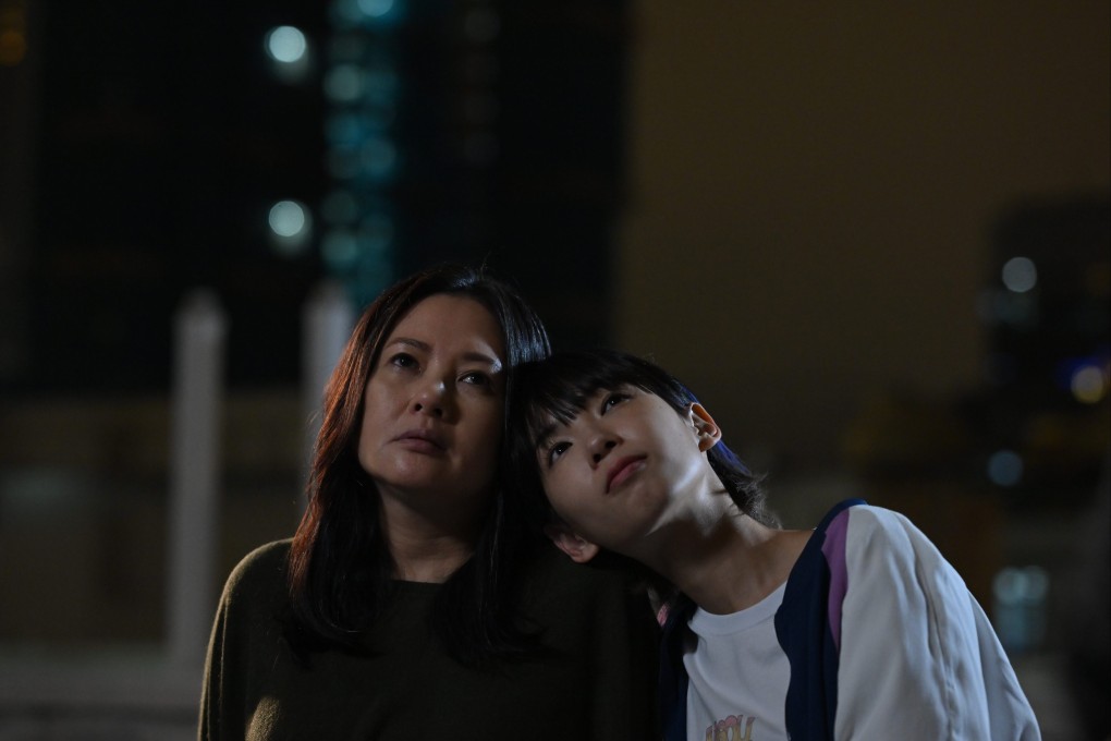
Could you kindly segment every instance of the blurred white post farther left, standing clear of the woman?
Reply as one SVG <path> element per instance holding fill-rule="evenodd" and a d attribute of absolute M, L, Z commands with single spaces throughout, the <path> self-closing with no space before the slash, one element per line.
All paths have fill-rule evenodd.
<path fill-rule="evenodd" d="M 204 662 L 216 608 L 219 545 L 220 403 L 227 319 L 217 297 L 197 289 L 174 317 L 170 407 L 170 661 Z"/>

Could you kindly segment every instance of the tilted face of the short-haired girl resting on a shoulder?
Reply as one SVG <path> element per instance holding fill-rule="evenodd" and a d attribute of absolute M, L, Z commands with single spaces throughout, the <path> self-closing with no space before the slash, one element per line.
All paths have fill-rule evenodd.
<path fill-rule="evenodd" d="M 703 451 L 719 438 L 698 404 L 678 412 L 634 387 L 603 390 L 570 423 L 542 435 L 540 478 L 578 535 L 635 557 L 641 539 L 707 484 L 712 471 Z"/>

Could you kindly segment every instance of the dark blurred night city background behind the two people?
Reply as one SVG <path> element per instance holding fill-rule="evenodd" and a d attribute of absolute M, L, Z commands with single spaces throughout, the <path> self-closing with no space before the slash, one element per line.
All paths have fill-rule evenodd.
<path fill-rule="evenodd" d="M 229 327 L 216 583 L 296 523 L 309 297 L 333 281 L 362 306 L 454 259 L 517 283 L 557 346 L 674 371 L 788 525 L 849 495 L 908 513 L 992 615 L 1045 738 L 1088 738 L 1071 662 L 1077 638 L 1107 655 L 1108 3 L 359 7 L 0 0 L 0 594 L 21 597 L 0 661 L 163 637 L 193 289 Z M 279 24 L 308 37 L 303 69 L 267 57 Z M 343 67 L 354 98 L 329 92 Z M 312 217 L 296 248 L 267 224 L 284 199 Z M 1030 291 L 1001 279 L 1015 257 Z M 1015 601 L 1001 574 L 1048 591 Z M 9 690 L 0 721 L 32 712 Z"/>

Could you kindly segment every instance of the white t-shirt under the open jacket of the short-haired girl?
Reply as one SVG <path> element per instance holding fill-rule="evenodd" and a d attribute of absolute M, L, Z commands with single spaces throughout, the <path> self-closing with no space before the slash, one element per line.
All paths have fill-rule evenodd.
<path fill-rule="evenodd" d="M 688 739 L 787 741 L 783 700 L 791 667 L 775 639 L 785 588 L 732 614 L 694 611 L 683 652 Z"/>

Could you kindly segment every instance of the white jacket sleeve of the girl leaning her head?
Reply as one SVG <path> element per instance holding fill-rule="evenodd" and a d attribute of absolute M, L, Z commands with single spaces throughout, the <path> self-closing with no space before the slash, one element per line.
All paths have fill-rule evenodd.
<path fill-rule="evenodd" d="M 853 508 L 834 737 L 1039 741 L 983 610 L 907 518 Z"/>

